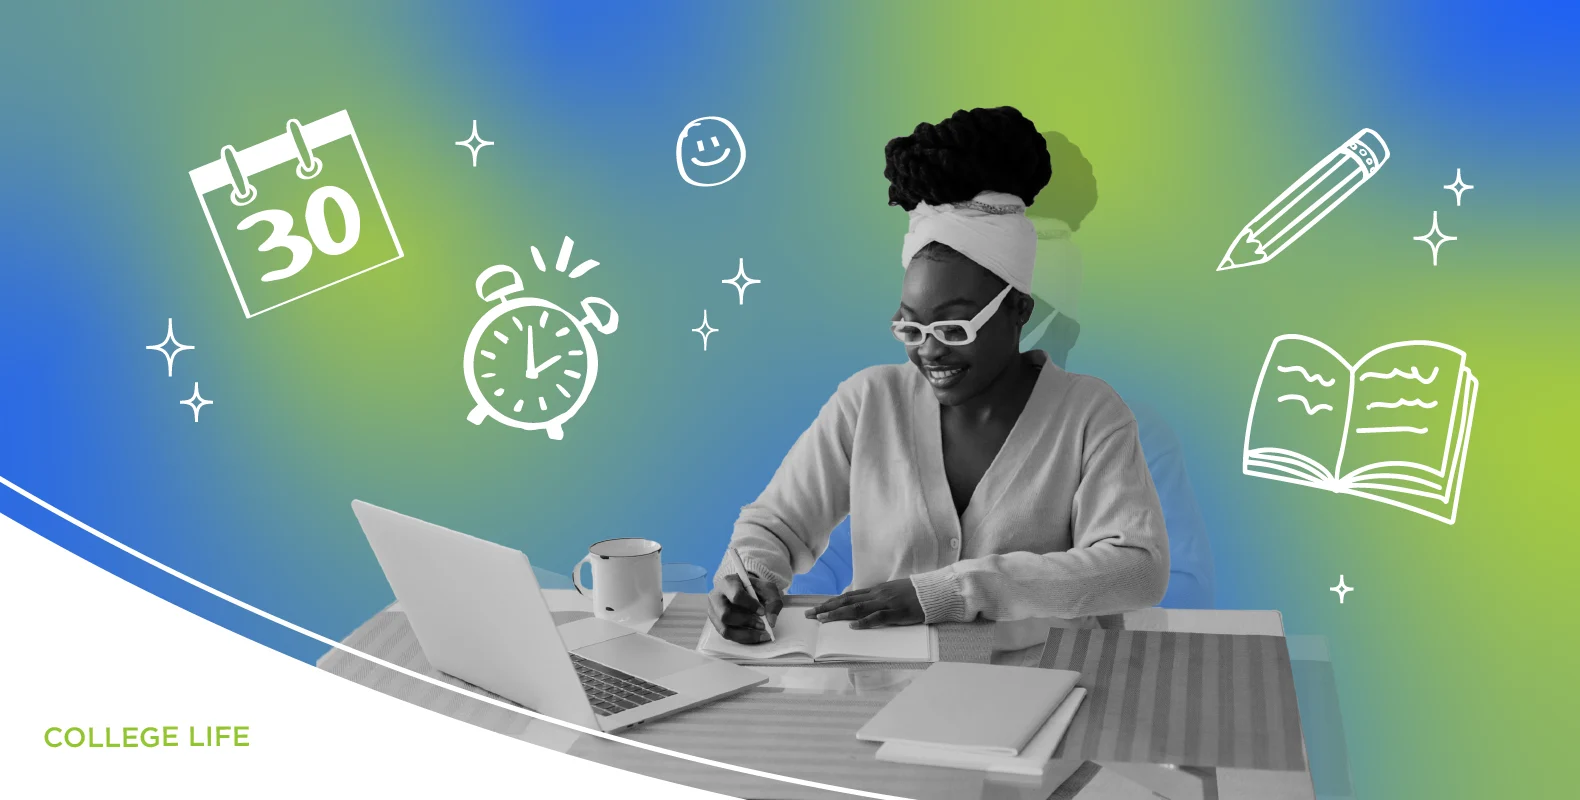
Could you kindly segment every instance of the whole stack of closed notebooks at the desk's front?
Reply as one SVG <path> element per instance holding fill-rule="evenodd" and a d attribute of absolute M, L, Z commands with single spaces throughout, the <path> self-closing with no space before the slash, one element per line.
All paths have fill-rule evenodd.
<path fill-rule="evenodd" d="M 856 738 L 882 742 L 882 760 L 1041 773 L 1085 696 L 1079 678 L 1071 670 L 934 664 Z"/>

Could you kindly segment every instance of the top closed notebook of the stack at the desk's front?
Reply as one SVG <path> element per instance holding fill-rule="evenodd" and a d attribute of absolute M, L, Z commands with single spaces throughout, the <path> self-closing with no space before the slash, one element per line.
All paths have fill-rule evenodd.
<path fill-rule="evenodd" d="M 905 686 L 856 738 L 1019 756 L 1079 672 L 939 662 Z"/>

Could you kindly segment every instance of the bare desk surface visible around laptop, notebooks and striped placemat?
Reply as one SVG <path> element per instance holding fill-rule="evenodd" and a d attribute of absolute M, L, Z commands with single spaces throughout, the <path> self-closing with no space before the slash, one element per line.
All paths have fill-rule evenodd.
<path fill-rule="evenodd" d="M 556 615 L 586 613 L 572 591 L 545 591 Z M 694 647 L 706 621 L 700 594 L 676 598 L 651 634 Z M 1283 636 L 1277 612 L 1215 612 L 1150 609 L 1100 620 L 1103 628 L 1180 632 L 1228 632 Z M 954 661 L 1036 666 L 1051 621 L 1013 625 L 973 623 L 940 626 L 940 656 Z M 1059 621 L 1057 625 L 1068 625 Z M 1093 621 L 1087 621 L 1093 625 Z M 1029 643 L 1030 642 L 1030 643 Z M 398 607 L 390 607 L 357 628 L 346 647 L 412 672 L 491 696 L 442 675 L 422 656 L 411 626 Z M 403 675 L 344 650 L 330 650 L 319 667 L 384 694 L 447 716 L 517 737 L 572 756 L 638 772 L 654 778 L 736 797 L 848 797 L 822 789 L 708 767 L 621 742 L 569 730 L 551 723 L 501 708 Z M 1041 779 L 988 776 L 973 770 L 915 767 L 880 762 L 877 745 L 858 742 L 861 727 L 923 666 L 815 666 L 754 667 L 769 677 L 763 686 L 725 697 L 686 713 L 627 730 L 630 740 L 725 764 L 749 767 L 831 786 L 913 798 L 1036 798 L 1054 795 L 1082 762 L 1049 762 Z M 498 699 L 498 697 L 496 697 Z M 1097 768 L 1087 764 L 1082 773 Z M 1194 798 L 1313 798 L 1308 772 L 1193 768 L 1190 765 L 1108 764 L 1104 772 L 1138 781 L 1168 800 Z M 1078 778 L 1079 779 L 1079 778 Z"/>

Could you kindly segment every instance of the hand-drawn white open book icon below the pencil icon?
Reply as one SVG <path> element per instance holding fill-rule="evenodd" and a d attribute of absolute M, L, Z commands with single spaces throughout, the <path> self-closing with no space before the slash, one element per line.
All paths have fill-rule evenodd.
<path fill-rule="evenodd" d="M 1454 525 L 1476 386 L 1465 351 L 1438 342 L 1395 342 L 1349 364 L 1311 337 L 1278 337 L 1251 394 L 1245 474 Z"/>

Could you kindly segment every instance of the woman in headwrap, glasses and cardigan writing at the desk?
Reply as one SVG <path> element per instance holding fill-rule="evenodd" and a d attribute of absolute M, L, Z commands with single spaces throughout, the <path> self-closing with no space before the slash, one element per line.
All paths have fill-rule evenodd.
<path fill-rule="evenodd" d="M 1169 549 L 1136 419 L 1097 378 L 1021 353 L 1048 145 L 1013 108 L 959 111 L 888 142 L 890 204 L 910 213 L 893 318 L 910 364 L 828 400 L 730 545 L 713 625 L 766 642 L 793 572 L 850 514 L 850 591 L 807 612 L 856 628 L 1149 607 Z"/>

